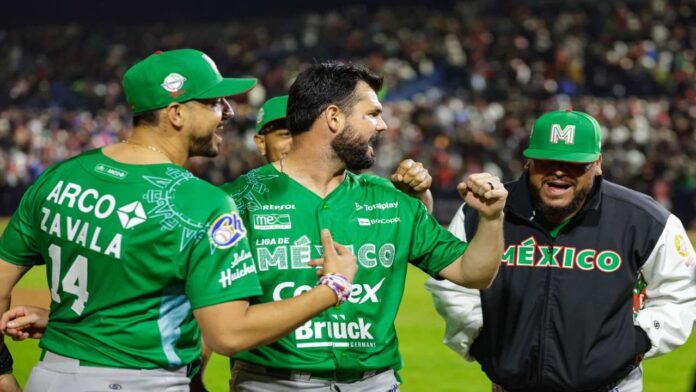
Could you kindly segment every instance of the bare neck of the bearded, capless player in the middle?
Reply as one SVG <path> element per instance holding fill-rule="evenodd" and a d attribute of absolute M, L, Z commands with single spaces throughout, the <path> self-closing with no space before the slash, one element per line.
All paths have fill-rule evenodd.
<path fill-rule="evenodd" d="M 326 197 L 343 182 L 345 164 L 329 152 L 330 145 L 312 143 L 303 136 L 296 136 L 287 157 L 273 165 L 312 192 Z"/>

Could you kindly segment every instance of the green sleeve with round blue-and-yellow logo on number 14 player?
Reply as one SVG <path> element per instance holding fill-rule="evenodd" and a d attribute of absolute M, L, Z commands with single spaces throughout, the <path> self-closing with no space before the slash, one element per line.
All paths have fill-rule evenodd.
<path fill-rule="evenodd" d="M 231 199 L 191 250 L 186 295 L 194 309 L 260 295 L 246 228 Z"/>

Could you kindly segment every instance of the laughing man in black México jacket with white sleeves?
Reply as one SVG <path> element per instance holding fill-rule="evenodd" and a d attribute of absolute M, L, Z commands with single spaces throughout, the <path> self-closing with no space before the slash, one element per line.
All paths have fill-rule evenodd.
<path fill-rule="evenodd" d="M 696 320 L 694 250 L 655 200 L 602 178 L 602 130 L 587 113 L 541 116 L 507 183 L 505 252 L 493 285 L 430 280 L 445 343 L 494 391 L 642 391 L 641 360 L 686 342 Z M 479 220 L 464 205 L 459 238 Z"/>

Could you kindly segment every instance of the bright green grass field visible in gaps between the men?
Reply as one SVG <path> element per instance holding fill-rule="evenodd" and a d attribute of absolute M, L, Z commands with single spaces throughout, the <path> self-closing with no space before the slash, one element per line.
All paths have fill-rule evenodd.
<path fill-rule="evenodd" d="M 4 224 L 0 221 L 0 232 Z M 32 269 L 18 287 L 46 289 L 45 268 Z M 430 294 L 423 288 L 426 275 L 412 268 L 397 318 L 401 352 L 404 357 L 402 390 L 490 391 L 490 383 L 475 363 L 468 363 L 442 343 L 444 323 L 435 312 Z M 15 375 L 24 383 L 39 357 L 37 341 L 12 342 Z M 644 362 L 646 392 L 688 391 L 696 370 L 696 334 L 675 352 Z M 210 391 L 227 391 L 230 372 L 225 358 L 214 355 L 205 375 Z"/>

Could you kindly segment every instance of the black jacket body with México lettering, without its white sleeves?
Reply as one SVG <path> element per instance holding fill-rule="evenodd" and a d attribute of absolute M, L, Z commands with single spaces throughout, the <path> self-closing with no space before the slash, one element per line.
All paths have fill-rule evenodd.
<path fill-rule="evenodd" d="M 492 287 L 481 291 L 483 329 L 471 355 L 510 391 L 603 390 L 651 347 L 633 324 L 633 287 L 670 214 L 597 177 L 553 239 L 534 219 L 527 176 L 506 188 L 506 252 Z M 478 215 L 466 206 L 464 214 L 472 238 Z M 550 252 L 554 258 L 543 257 Z"/>

